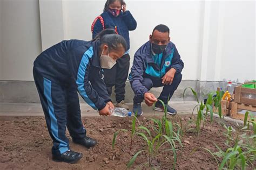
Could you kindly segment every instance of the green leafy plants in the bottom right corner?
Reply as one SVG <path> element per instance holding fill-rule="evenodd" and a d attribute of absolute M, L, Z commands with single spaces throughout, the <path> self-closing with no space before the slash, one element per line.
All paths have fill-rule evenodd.
<path fill-rule="evenodd" d="M 219 151 L 214 153 L 207 148 L 204 148 L 212 154 L 218 164 L 219 169 L 246 169 L 248 166 L 254 166 L 254 162 L 256 160 L 256 122 L 252 117 L 252 121 L 247 121 L 248 115 L 249 112 L 247 111 L 244 119 L 245 127 L 241 129 L 247 130 L 248 133 L 243 133 L 240 136 L 237 133 L 237 138 L 235 139 L 235 144 L 233 147 L 230 146 L 226 151 L 223 151 L 218 145 L 215 144 Z M 250 124 L 252 124 L 253 134 L 250 134 Z M 235 131 L 230 127 L 231 126 L 226 127 L 228 130 L 228 139 L 231 139 L 231 132 Z M 218 162 L 216 157 L 220 158 L 221 162 Z"/>

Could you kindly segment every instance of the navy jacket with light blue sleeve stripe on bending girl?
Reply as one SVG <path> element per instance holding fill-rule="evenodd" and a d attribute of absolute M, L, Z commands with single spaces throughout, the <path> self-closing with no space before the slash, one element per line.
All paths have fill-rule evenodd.
<path fill-rule="evenodd" d="M 76 86 L 93 109 L 111 101 L 99 65 L 99 41 L 68 40 L 46 49 L 34 62 L 34 69 L 60 86 Z"/>

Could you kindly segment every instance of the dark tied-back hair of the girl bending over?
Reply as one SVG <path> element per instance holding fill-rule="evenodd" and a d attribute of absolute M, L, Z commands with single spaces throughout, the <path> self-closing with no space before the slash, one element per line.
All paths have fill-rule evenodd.
<path fill-rule="evenodd" d="M 126 51 L 126 41 L 125 39 L 117 34 L 113 29 L 105 29 L 98 33 L 98 35 L 93 39 L 93 41 L 99 40 L 99 45 L 107 44 L 109 47 L 109 51 L 115 50 L 117 51 L 120 47 L 124 48 Z"/>

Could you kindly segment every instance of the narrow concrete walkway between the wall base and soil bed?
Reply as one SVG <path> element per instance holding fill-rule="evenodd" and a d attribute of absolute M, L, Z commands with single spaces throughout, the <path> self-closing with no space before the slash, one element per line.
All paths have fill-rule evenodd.
<path fill-rule="evenodd" d="M 132 103 L 127 103 L 132 110 Z M 170 105 L 178 111 L 178 114 L 191 114 L 197 103 L 194 101 L 170 102 Z M 142 105 L 143 115 L 150 116 L 153 114 L 162 115 L 163 112 L 154 111 L 153 107 Z M 93 110 L 85 103 L 80 104 L 82 117 L 99 116 L 96 110 Z M 44 116 L 41 104 L 39 103 L 0 103 L 0 116 Z"/>

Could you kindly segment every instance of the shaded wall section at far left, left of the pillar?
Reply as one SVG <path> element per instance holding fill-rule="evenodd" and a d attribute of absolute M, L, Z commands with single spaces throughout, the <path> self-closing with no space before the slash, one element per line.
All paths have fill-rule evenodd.
<path fill-rule="evenodd" d="M 0 80 L 33 80 L 33 61 L 42 49 L 38 6 L 36 0 L 1 0 Z"/>

